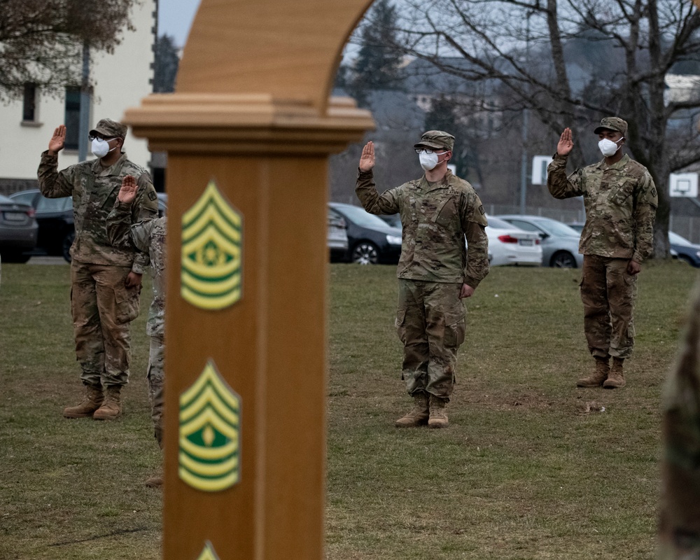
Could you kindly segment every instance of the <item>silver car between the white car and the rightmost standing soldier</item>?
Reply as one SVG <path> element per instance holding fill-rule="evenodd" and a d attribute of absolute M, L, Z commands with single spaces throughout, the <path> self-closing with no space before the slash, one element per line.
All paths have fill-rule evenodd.
<path fill-rule="evenodd" d="M 578 252 L 580 233 L 552 218 L 509 214 L 496 216 L 512 223 L 521 230 L 535 232 L 542 240 L 542 266 L 577 268 L 583 265 L 583 255 Z"/>

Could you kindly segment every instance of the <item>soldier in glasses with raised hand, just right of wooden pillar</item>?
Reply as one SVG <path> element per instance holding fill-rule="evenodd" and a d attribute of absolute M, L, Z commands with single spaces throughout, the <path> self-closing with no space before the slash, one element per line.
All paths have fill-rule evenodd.
<path fill-rule="evenodd" d="M 404 345 L 402 379 L 414 407 L 397 427 L 447 426 L 445 407 L 464 342 L 461 300 L 489 272 L 484 207 L 472 186 L 447 169 L 453 146 L 447 132 L 423 134 L 414 148 L 425 175 L 382 195 L 374 186 L 372 142 L 360 157 L 355 192 L 363 207 L 371 214 L 400 214 L 403 228 L 396 328 Z"/>

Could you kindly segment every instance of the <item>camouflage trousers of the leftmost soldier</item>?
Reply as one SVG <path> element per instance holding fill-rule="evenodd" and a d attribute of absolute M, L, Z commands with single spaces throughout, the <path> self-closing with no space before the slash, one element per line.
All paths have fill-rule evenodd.
<path fill-rule="evenodd" d="M 130 267 L 71 262 L 71 311 L 80 379 L 86 385 L 125 385 L 130 322 L 139 315 L 141 286 L 124 285 Z"/>

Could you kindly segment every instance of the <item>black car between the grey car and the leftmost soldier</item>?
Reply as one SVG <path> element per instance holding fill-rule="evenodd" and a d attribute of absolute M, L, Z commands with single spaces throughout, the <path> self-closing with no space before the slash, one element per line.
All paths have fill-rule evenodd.
<path fill-rule="evenodd" d="M 39 231 L 33 254 L 62 256 L 70 262 L 69 250 L 76 237 L 73 199 L 46 198 L 38 189 L 20 190 L 9 197 L 15 202 L 31 204 L 36 211 Z"/>

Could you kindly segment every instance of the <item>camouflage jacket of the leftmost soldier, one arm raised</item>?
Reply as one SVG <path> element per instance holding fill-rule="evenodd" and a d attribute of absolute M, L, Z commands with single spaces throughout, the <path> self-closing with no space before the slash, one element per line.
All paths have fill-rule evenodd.
<path fill-rule="evenodd" d="M 76 239 L 71 246 L 72 258 L 95 265 L 130 266 L 134 272 L 144 274 L 148 268 L 146 255 L 139 255 L 132 246 L 111 246 L 104 227 L 126 175 L 136 177 L 139 183 L 132 222 L 158 216 L 158 197 L 151 176 L 143 167 L 130 162 L 123 154 L 107 169 L 102 169 L 99 160 L 90 160 L 59 172 L 58 156 L 46 151 L 41 154 L 37 174 L 45 197 L 73 197 Z"/>

